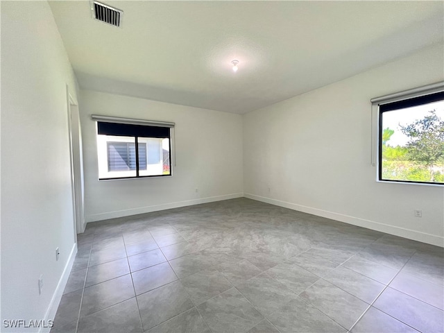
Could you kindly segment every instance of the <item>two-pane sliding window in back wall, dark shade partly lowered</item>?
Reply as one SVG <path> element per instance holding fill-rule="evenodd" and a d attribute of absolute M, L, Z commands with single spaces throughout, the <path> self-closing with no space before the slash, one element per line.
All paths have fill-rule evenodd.
<path fill-rule="evenodd" d="M 171 176 L 173 123 L 93 116 L 97 121 L 99 180 Z M 103 121 L 105 120 L 105 121 Z M 140 124 L 147 123 L 147 124 Z"/>

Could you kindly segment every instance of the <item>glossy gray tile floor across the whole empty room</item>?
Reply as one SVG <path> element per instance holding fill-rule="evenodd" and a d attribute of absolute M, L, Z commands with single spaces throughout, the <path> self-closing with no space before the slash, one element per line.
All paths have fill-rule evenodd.
<path fill-rule="evenodd" d="M 51 332 L 443 332 L 443 248 L 246 198 L 89 223 Z"/>

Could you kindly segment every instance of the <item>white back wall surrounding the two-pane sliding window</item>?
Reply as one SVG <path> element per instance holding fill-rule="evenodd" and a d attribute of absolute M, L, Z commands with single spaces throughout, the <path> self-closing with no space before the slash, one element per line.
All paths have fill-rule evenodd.
<path fill-rule="evenodd" d="M 175 122 L 173 176 L 99 181 L 96 123 L 91 114 Z M 242 117 L 239 114 L 81 90 L 80 121 L 87 221 L 243 195 Z"/>

